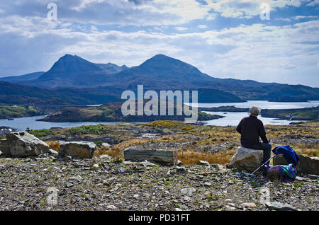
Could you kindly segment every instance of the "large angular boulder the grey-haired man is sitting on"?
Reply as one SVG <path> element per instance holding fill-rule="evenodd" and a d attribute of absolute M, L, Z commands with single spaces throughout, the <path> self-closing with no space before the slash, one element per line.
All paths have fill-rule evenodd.
<path fill-rule="evenodd" d="M 262 165 L 262 156 L 262 150 L 247 149 L 240 146 L 228 166 L 252 172 Z"/>

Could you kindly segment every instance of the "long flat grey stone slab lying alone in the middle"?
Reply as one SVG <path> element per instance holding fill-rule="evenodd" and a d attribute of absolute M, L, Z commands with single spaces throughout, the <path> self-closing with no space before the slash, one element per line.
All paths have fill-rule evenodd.
<path fill-rule="evenodd" d="M 163 149 L 125 149 L 125 161 L 150 161 L 164 166 L 174 166 L 177 163 L 176 152 Z"/>

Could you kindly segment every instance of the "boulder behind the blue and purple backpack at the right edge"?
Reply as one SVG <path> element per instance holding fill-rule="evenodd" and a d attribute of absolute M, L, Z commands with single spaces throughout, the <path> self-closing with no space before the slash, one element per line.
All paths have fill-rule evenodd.
<path fill-rule="evenodd" d="M 319 157 L 310 157 L 299 155 L 300 159 L 296 166 L 297 173 L 308 173 L 319 175 Z M 288 165 L 286 159 L 283 154 L 278 154 L 276 158 L 274 158 L 274 165 Z"/>

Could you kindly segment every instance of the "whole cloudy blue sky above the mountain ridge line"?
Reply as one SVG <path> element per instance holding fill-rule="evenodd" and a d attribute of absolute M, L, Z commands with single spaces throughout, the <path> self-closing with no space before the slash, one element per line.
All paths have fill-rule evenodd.
<path fill-rule="evenodd" d="M 166 54 L 213 77 L 319 87 L 319 0 L 0 0 L 0 50 L 0 76 L 65 54 L 128 67 Z"/>

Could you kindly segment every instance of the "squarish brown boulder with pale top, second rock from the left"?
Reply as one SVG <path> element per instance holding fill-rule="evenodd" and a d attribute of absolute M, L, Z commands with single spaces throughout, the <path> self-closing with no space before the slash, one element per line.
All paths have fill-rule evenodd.
<path fill-rule="evenodd" d="M 59 157 L 93 158 L 96 144 L 87 142 L 65 142 L 60 144 Z"/>

